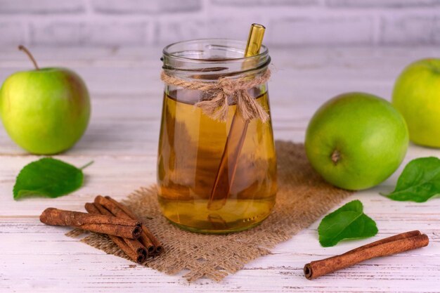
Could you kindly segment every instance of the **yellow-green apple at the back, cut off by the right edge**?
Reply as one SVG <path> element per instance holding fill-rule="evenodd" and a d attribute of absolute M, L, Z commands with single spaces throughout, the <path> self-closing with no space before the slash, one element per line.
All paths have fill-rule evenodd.
<path fill-rule="evenodd" d="M 411 141 L 440 148 L 440 59 L 408 65 L 396 80 L 392 103 L 405 118 Z"/>

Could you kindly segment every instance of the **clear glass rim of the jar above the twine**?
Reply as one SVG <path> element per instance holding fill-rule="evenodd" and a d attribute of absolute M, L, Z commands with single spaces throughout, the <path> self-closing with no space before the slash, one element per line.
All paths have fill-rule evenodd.
<path fill-rule="evenodd" d="M 230 46 L 227 46 L 228 48 L 234 48 L 236 51 L 238 51 L 240 53 L 242 51 L 242 56 L 235 57 L 235 58 L 221 58 L 221 59 L 189 58 L 189 57 L 179 56 L 178 54 L 176 54 L 176 53 L 182 53 L 182 51 L 170 52 L 170 49 L 175 46 L 184 46 L 184 45 L 190 45 L 190 44 L 203 44 L 203 43 L 206 43 L 207 46 L 220 46 L 220 45 L 215 45 L 215 43 L 219 43 L 219 42 L 225 42 L 226 44 L 230 45 Z M 211 43 L 214 43 L 214 44 L 211 44 Z M 232 47 L 231 45 L 233 45 L 233 44 L 235 44 L 236 46 Z M 241 41 L 241 40 L 237 40 L 237 39 L 222 39 L 222 38 L 190 39 L 190 40 L 186 40 L 186 41 L 176 41 L 172 44 L 165 46 L 162 50 L 162 54 L 163 54 L 163 56 L 166 56 L 168 58 L 180 59 L 185 62 L 197 62 L 197 63 L 203 63 L 203 62 L 212 63 L 213 61 L 221 61 L 221 63 L 244 62 L 245 60 L 259 59 L 261 57 L 268 55 L 268 48 L 264 45 L 261 45 L 259 54 L 254 55 L 254 56 L 245 57 L 243 55 L 245 53 L 246 44 L 247 44 L 246 41 Z M 221 45 L 221 46 L 224 46 L 226 48 L 226 45 Z M 238 48 L 237 46 L 240 46 L 240 48 Z M 242 50 L 240 50 L 241 48 L 242 48 Z"/>

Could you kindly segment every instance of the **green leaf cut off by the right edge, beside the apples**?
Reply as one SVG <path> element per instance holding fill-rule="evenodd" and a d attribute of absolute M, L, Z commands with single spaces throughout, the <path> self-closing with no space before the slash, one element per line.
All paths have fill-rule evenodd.
<path fill-rule="evenodd" d="M 396 189 L 385 196 L 392 200 L 426 202 L 435 195 L 440 195 L 440 159 L 420 157 L 406 165 L 397 179 Z"/>

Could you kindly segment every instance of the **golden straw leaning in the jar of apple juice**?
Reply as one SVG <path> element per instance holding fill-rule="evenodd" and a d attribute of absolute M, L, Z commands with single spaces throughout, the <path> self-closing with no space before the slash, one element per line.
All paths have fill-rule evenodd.
<path fill-rule="evenodd" d="M 259 54 L 265 30 L 266 27 L 263 25 L 257 23 L 252 24 L 249 37 L 247 38 L 245 57 Z M 250 66 L 250 64 L 243 64 L 243 67 L 248 66 Z M 242 119 L 237 110 L 235 110 L 235 115 L 231 122 L 231 129 L 229 129 L 228 138 L 226 138 L 223 155 L 221 155 L 219 170 L 217 171 L 211 196 L 209 197 L 208 209 L 221 209 L 226 204 L 226 200 L 231 191 L 231 185 L 234 181 L 238 157 L 240 157 L 240 152 L 245 142 L 248 125 L 249 122 Z"/>

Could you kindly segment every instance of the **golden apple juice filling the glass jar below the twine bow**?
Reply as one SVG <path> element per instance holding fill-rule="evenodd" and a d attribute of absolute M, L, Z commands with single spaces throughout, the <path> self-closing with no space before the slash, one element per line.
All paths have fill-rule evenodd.
<path fill-rule="evenodd" d="M 160 207 L 169 221 L 186 230 L 244 230 L 263 221 L 275 204 L 276 154 L 271 121 L 249 122 L 235 176 L 228 182 L 226 202 L 220 209 L 208 209 L 235 105 L 228 106 L 228 118 L 220 122 L 195 107 L 202 94 L 183 89 L 164 94 L 157 157 Z M 265 89 L 256 99 L 269 110 Z"/>

